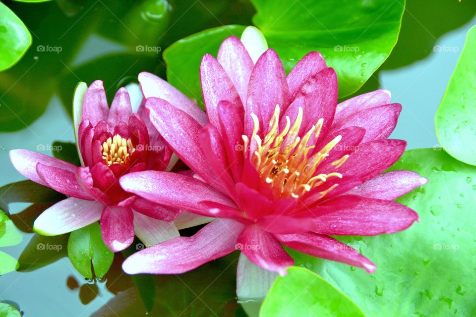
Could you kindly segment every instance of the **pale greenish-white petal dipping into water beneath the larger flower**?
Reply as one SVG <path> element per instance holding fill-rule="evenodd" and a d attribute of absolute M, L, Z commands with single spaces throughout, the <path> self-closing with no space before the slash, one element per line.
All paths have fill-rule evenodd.
<path fill-rule="evenodd" d="M 237 267 L 238 300 L 258 300 L 268 293 L 278 274 L 262 269 L 240 253 Z"/>

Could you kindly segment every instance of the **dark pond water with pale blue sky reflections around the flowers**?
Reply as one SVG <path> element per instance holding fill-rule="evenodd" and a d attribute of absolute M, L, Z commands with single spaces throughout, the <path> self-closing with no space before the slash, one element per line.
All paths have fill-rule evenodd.
<path fill-rule="evenodd" d="M 215 13 L 220 12 L 218 16 L 224 24 L 250 24 L 253 8 L 239 6 L 244 1 L 231 1 L 228 9 L 208 2 L 205 1 L 204 5 L 213 7 L 215 10 L 211 11 Z M 474 5 L 467 4 L 462 10 L 449 8 L 450 5 L 443 5 L 443 1 L 414 2 L 421 3 L 408 4 L 394 53 L 362 88 L 362 91 L 378 87 L 388 89 L 392 92 L 392 102 L 403 105 L 397 128 L 391 137 L 407 140 L 408 149 L 438 144 L 434 114 L 463 49 L 466 32 L 476 24 Z M 101 1 L 89 1 L 83 4 L 83 8 L 74 1 L 38 4 L 43 11 L 28 11 L 26 4 L 6 3 L 31 28 L 34 43 L 18 65 L 0 73 L 0 96 L 5 97 L 2 96 L 0 101 L 1 115 L 19 121 L 17 127 L 21 128 L 0 133 L 0 187 L 24 180 L 9 163 L 10 150 L 24 148 L 52 155 L 53 141 L 74 141 L 72 122 L 66 109 L 70 107 L 68 102 L 75 82 L 82 80 L 90 83 L 93 79 L 104 78 L 106 87 L 111 87 L 108 90 L 108 97 L 111 98 L 117 87 L 129 82 L 131 76 L 141 70 L 164 75 L 163 65 L 157 61 L 160 57 L 144 58 L 134 63 L 130 61 L 135 57 L 130 59 L 120 55 L 130 44 L 123 43 L 127 42 L 130 34 L 115 14 L 104 9 Z M 127 5 L 135 7 L 133 1 Z M 122 12 L 127 5 L 121 8 L 118 4 L 112 10 Z M 443 7 L 438 8 L 438 5 Z M 183 6 L 170 19 L 183 13 L 186 7 Z M 164 10 L 169 9 L 166 7 Z M 196 22 L 192 33 L 221 25 L 211 12 L 207 13 L 203 8 L 192 9 L 184 16 L 185 21 L 180 23 L 190 23 L 194 17 L 190 14 L 192 12 L 195 15 L 197 12 L 208 14 Z M 102 17 L 101 21 L 96 21 L 97 16 Z M 105 29 L 99 30 L 105 26 Z M 140 27 L 140 24 L 136 26 Z M 157 27 L 163 26 L 159 23 Z M 119 31 L 116 32 L 116 29 Z M 63 33 L 65 35 L 60 38 Z M 186 35 L 174 29 L 174 34 L 166 35 L 162 45 L 166 47 Z M 121 37 L 124 39 L 122 43 L 118 41 Z M 76 38 L 81 38 L 82 44 L 73 53 L 69 48 L 79 45 L 75 43 Z M 37 52 L 35 48 L 40 44 L 61 46 L 63 51 L 57 55 Z M 119 57 L 108 57 L 111 54 L 119 54 Z M 78 67 L 95 60 L 99 61 Z M 2 130 L 13 129 L 16 127 L 12 125 Z M 4 188 L 3 198 L 9 197 L 7 193 Z M 134 279 L 121 271 L 121 256 L 117 255 L 103 280 L 88 281 L 67 258 L 67 237 L 38 238 L 32 233 L 35 215 L 47 206 L 15 201 L 9 204 L 12 215 L 24 214 L 12 216 L 15 225 L 22 231 L 23 241 L 14 247 L 2 248 L 2 251 L 22 261 L 20 271 L 0 277 L 0 301 L 15 303 L 24 316 L 246 316 L 235 295 L 237 253 L 187 274 L 139 276 Z M 49 253 L 37 250 L 39 243 L 57 245 L 60 250 Z M 47 261 L 51 263 L 46 264 Z M 144 290 L 149 293 L 145 300 L 140 295 Z M 153 310 L 146 313 L 146 306 L 153 307 Z"/>

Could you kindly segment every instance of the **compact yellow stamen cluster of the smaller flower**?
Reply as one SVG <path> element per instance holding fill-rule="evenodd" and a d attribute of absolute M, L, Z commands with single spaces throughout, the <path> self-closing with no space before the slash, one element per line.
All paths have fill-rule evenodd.
<path fill-rule="evenodd" d="M 104 163 L 108 166 L 120 164 L 124 167 L 130 166 L 130 155 L 135 151 L 135 147 L 130 139 L 124 139 L 119 134 L 109 137 L 101 146 Z"/>

